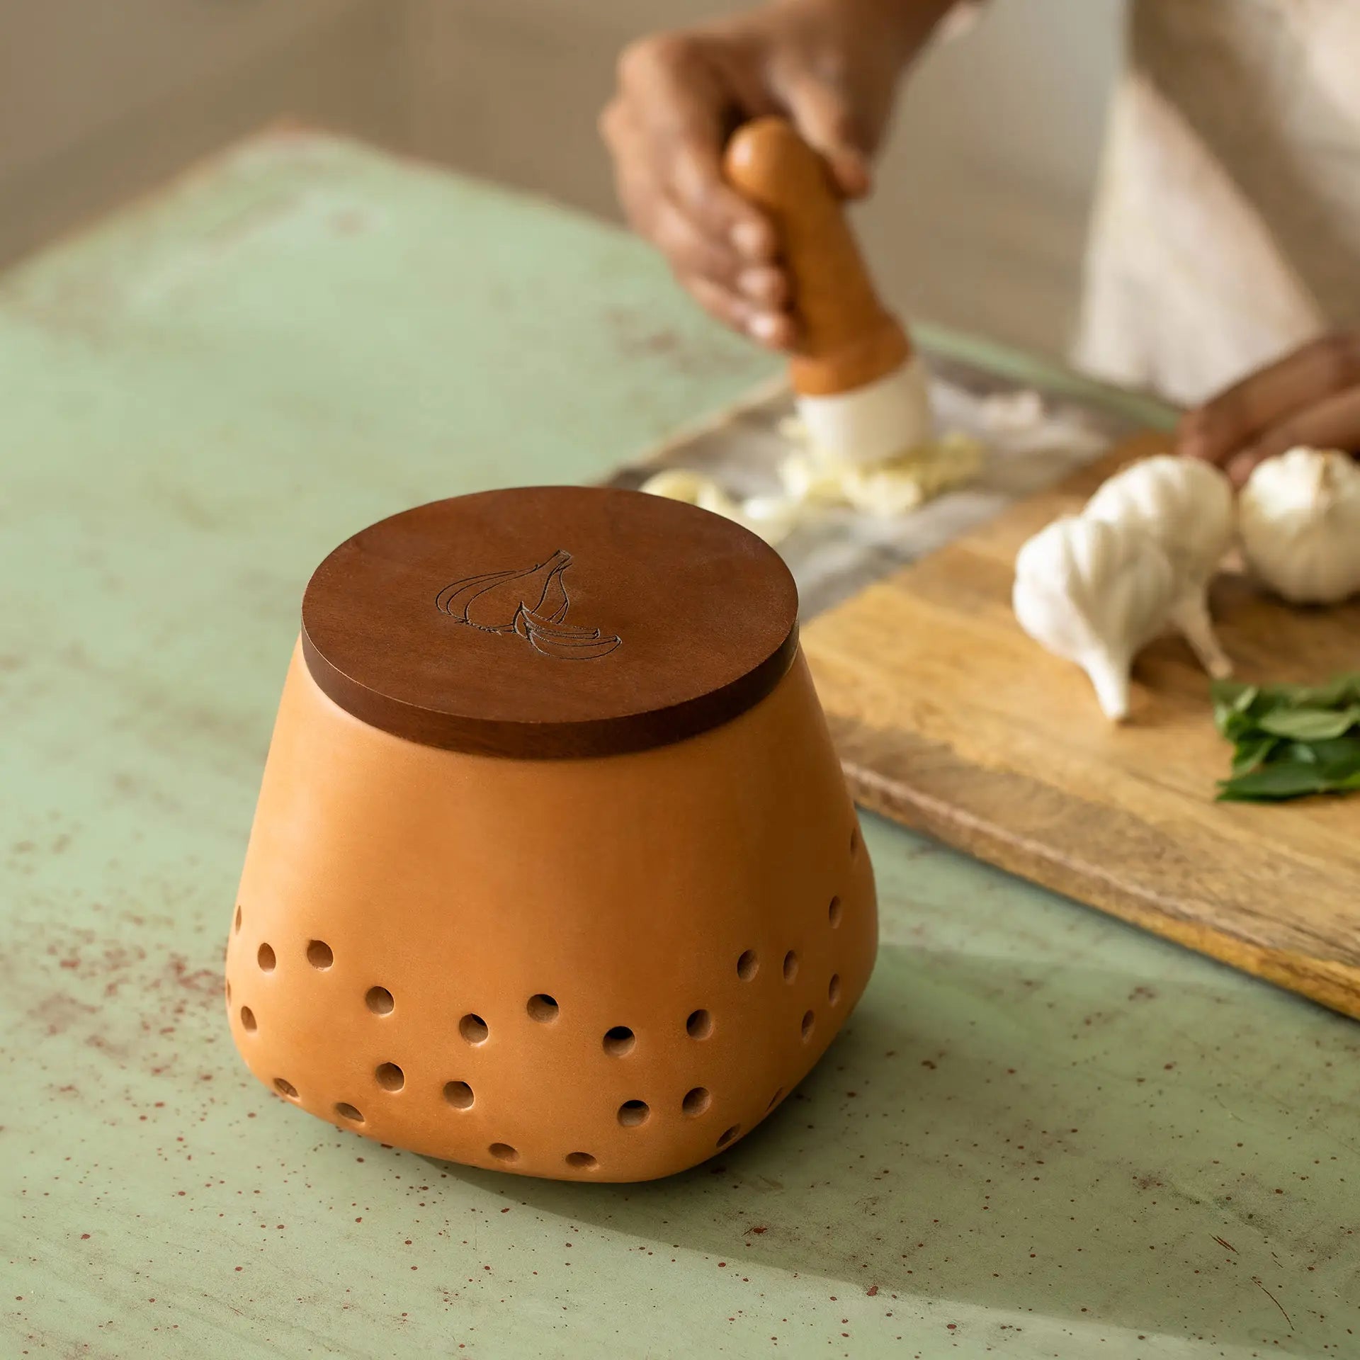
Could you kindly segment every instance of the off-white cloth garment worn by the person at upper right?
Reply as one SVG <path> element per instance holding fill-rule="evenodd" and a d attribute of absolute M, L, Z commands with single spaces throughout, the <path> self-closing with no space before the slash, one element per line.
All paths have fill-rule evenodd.
<path fill-rule="evenodd" d="M 1193 403 L 1360 325 L 1360 0 L 1133 0 L 1074 358 Z"/>

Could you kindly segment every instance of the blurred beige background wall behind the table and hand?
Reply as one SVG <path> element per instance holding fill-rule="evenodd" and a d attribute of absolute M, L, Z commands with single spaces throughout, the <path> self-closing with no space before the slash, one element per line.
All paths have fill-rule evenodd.
<path fill-rule="evenodd" d="M 714 0 L 0 0 L 0 264 L 279 117 L 616 218 L 630 38 Z M 1122 0 L 993 0 L 908 83 L 860 220 L 908 313 L 1050 352 L 1074 316 Z"/>

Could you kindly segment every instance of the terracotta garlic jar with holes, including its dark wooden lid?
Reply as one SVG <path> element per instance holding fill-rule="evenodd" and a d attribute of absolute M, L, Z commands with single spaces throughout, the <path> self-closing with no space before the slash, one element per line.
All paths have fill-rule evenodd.
<path fill-rule="evenodd" d="M 317 568 L 227 948 L 271 1091 L 453 1161 L 666 1175 L 779 1104 L 876 938 L 797 592 L 745 529 L 491 491 Z"/>

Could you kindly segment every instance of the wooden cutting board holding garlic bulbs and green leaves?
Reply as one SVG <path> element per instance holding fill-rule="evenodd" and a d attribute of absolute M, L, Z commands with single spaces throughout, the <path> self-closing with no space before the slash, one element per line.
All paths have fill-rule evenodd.
<path fill-rule="evenodd" d="M 1229 747 L 1182 642 L 1144 651 L 1114 726 L 1010 612 L 1020 544 L 1159 447 L 1125 445 L 805 630 L 846 774 L 876 812 L 1360 1017 L 1360 796 L 1214 802 Z M 1213 605 L 1243 679 L 1360 669 L 1360 604 L 1289 609 L 1224 575 Z"/>

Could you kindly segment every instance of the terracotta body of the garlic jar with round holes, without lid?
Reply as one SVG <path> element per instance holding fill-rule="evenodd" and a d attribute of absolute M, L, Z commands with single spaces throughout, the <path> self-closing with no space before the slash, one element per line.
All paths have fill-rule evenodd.
<path fill-rule="evenodd" d="M 876 942 L 873 872 L 801 656 L 687 741 L 511 760 L 359 721 L 299 647 L 227 1008 L 254 1074 L 341 1127 L 635 1180 L 774 1110 L 860 998 Z"/>

